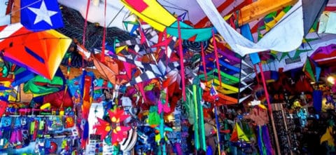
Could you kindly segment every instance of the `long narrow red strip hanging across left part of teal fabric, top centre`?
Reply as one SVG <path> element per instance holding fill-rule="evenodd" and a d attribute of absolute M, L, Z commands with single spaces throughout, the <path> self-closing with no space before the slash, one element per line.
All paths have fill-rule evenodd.
<path fill-rule="evenodd" d="M 184 74 L 183 47 L 182 47 L 182 38 L 181 38 L 180 19 L 177 20 L 177 27 L 179 29 L 179 55 L 180 55 L 181 78 L 182 78 L 182 95 L 183 95 L 183 101 L 186 101 L 186 77 Z"/>

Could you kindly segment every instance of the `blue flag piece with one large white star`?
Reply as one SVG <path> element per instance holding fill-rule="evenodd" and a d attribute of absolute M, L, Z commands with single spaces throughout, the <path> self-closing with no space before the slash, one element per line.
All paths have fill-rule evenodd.
<path fill-rule="evenodd" d="M 38 32 L 64 27 L 57 0 L 21 0 L 21 23 Z"/>

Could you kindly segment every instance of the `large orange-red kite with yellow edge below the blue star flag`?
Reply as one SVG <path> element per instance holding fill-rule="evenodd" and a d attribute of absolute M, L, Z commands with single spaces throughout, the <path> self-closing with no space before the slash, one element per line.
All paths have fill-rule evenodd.
<path fill-rule="evenodd" d="M 52 79 L 71 39 L 55 30 L 31 32 L 20 23 L 0 28 L 0 50 L 5 60 Z M 21 51 L 21 52 L 18 52 Z"/>

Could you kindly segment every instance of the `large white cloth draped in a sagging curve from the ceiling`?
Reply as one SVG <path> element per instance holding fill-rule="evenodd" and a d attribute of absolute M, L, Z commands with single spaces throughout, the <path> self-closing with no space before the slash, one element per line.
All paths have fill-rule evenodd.
<path fill-rule="evenodd" d="M 264 50 L 289 52 L 302 43 L 304 28 L 301 0 L 257 43 L 246 39 L 223 20 L 211 0 L 197 0 L 197 3 L 232 50 L 241 56 Z"/>

